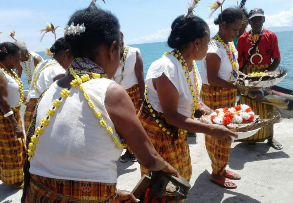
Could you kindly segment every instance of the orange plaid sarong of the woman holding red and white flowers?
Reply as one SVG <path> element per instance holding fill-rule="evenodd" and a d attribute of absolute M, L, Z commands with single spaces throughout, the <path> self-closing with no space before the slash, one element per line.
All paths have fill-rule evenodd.
<path fill-rule="evenodd" d="M 164 115 L 156 112 L 156 118 L 154 118 L 144 105 L 142 105 L 138 117 L 158 154 L 178 170 L 179 174 L 189 182 L 192 174 L 192 166 L 186 137 L 187 133 L 183 133 L 177 139 L 173 139 L 171 135 L 167 135 L 162 131 L 162 128 L 155 121 L 159 119 L 163 123 L 162 120 L 165 120 Z M 167 126 L 164 127 L 168 129 Z M 181 131 L 183 130 L 178 129 L 178 132 Z M 148 174 L 149 170 L 140 166 L 140 172 L 143 176 L 143 174 Z"/>

